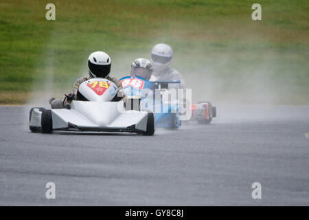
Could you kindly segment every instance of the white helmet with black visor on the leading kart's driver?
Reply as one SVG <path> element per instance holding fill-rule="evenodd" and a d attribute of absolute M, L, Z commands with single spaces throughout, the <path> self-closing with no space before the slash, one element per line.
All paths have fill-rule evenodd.
<path fill-rule="evenodd" d="M 111 72 L 111 58 L 102 51 L 93 52 L 88 58 L 88 70 L 91 78 L 106 78 Z"/>

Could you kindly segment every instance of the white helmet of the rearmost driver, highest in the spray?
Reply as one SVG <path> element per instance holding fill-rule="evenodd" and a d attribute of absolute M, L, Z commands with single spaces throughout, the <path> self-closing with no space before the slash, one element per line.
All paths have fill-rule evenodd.
<path fill-rule="evenodd" d="M 172 61 L 173 51 L 172 48 L 165 44 L 159 43 L 152 48 L 151 61 L 155 72 L 161 72 L 170 68 L 170 62 Z"/>

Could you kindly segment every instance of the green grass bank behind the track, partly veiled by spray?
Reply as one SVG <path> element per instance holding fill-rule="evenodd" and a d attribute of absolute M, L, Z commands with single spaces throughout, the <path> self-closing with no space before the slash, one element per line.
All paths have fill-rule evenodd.
<path fill-rule="evenodd" d="M 52 2 L 56 21 L 45 20 L 49 1 L 1 0 L 0 103 L 71 91 L 96 50 L 125 76 L 165 42 L 194 100 L 309 104 L 308 1 L 259 1 L 262 21 L 251 20 L 255 1 Z"/>

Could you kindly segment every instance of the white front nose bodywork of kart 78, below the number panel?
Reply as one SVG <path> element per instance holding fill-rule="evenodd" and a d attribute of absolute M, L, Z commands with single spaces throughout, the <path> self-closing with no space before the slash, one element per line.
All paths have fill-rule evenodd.
<path fill-rule="evenodd" d="M 147 119 L 148 111 L 125 111 L 122 101 L 73 101 L 70 110 L 52 110 L 54 130 L 64 130 L 74 126 L 82 130 L 126 130 L 129 126 L 135 126 L 138 131 L 146 131 Z"/>

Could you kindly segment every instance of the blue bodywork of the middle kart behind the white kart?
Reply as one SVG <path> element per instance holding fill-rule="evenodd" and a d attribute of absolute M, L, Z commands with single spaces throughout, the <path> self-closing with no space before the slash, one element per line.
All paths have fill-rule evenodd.
<path fill-rule="evenodd" d="M 179 120 L 180 104 L 165 104 L 161 98 L 156 100 L 152 82 L 138 76 L 126 76 L 121 78 L 120 81 L 126 96 L 141 98 L 141 109 L 148 109 L 154 113 L 155 126 L 172 129 L 181 126 L 181 120 Z"/>

